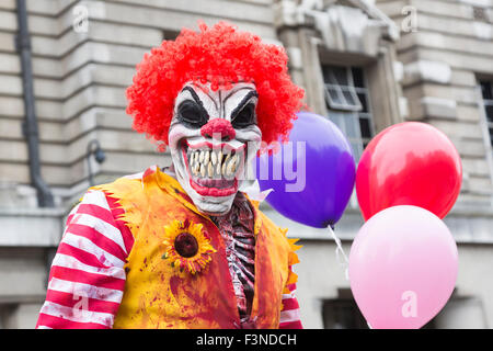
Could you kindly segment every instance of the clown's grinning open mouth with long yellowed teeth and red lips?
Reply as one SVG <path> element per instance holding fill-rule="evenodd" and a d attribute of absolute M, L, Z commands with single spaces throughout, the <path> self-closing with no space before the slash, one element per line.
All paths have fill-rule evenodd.
<path fill-rule="evenodd" d="M 183 162 L 191 186 L 203 196 L 228 196 L 238 191 L 238 174 L 243 169 L 244 146 L 202 143 L 182 147 Z"/>

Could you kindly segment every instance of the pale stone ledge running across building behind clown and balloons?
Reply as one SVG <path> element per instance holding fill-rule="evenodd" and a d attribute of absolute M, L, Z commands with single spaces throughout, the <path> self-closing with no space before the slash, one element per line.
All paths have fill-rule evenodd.
<path fill-rule="evenodd" d="M 288 236 L 303 240 L 333 240 L 328 229 L 312 228 L 290 220 L 267 204 L 261 210 Z M 58 246 L 64 231 L 66 208 L 0 208 L 0 247 Z M 458 244 L 493 244 L 493 208 L 486 206 L 456 206 L 445 223 Z M 364 220 L 358 208 L 347 208 L 335 226 L 342 241 L 353 241 Z"/>

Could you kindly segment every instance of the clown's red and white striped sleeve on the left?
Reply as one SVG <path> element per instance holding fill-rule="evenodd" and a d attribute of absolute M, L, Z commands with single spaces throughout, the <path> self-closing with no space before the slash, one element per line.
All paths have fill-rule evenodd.
<path fill-rule="evenodd" d="M 112 328 L 134 238 L 116 200 L 90 190 L 67 218 L 36 328 Z"/>

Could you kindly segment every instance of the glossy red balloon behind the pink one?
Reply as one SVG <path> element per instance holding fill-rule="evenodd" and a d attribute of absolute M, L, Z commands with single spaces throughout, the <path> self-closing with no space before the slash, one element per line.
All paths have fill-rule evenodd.
<path fill-rule="evenodd" d="M 462 182 L 459 152 L 429 124 L 404 122 L 380 132 L 366 147 L 356 172 L 365 220 L 391 206 L 413 205 L 444 218 Z"/>

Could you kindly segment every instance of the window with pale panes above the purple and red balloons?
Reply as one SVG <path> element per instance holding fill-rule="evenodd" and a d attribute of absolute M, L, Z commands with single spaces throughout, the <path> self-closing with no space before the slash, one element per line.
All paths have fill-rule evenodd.
<path fill-rule="evenodd" d="M 357 161 L 375 133 L 364 71 L 329 65 L 322 71 L 329 118 L 347 137 Z"/>

